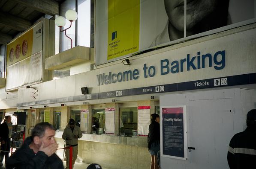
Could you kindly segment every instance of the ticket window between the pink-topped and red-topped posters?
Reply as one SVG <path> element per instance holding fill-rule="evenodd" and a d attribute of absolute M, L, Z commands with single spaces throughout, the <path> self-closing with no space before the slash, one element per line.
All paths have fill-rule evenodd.
<path fill-rule="evenodd" d="M 119 135 L 125 137 L 137 136 L 138 128 L 138 109 L 120 108 Z"/>

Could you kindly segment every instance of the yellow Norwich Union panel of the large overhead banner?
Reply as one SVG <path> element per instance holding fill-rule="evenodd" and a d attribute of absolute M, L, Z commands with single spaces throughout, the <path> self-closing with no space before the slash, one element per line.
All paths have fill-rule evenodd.
<path fill-rule="evenodd" d="M 108 60 L 139 50 L 140 0 L 108 0 Z"/>

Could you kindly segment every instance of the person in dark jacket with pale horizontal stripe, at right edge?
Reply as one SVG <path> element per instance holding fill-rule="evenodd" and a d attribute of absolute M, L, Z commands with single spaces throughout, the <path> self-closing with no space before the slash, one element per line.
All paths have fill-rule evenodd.
<path fill-rule="evenodd" d="M 247 113 L 247 128 L 235 134 L 229 143 L 230 169 L 254 169 L 256 167 L 256 109 Z"/>

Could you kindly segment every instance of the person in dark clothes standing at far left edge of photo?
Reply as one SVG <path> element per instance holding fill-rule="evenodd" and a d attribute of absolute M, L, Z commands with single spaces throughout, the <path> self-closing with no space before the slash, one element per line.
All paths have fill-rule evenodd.
<path fill-rule="evenodd" d="M 1 140 L 1 147 L 2 150 L 0 152 L 0 167 L 3 166 L 3 157 L 7 159 L 9 157 L 9 152 L 11 149 L 11 137 L 12 137 L 12 117 L 6 116 L 4 117 L 3 123 L 0 125 L 1 132 L 0 132 L 0 140 Z M 5 152 L 3 152 L 5 151 Z"/>

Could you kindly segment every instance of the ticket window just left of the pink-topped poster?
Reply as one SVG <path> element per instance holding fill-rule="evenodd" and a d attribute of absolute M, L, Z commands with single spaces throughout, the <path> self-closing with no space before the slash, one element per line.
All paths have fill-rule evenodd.
<path fill-rule="evenodd" d="M 105 133 L 105 109 L 92 109 L 92 134 Z"/>

